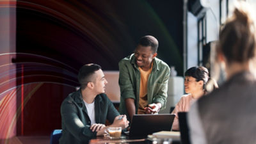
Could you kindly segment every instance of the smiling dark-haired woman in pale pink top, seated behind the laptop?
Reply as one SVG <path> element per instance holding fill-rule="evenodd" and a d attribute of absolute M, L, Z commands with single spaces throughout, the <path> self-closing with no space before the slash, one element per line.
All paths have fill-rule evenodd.
<path fill-rule="evenodd" d="M 205 67 L 191 67 L 185 72 L 184 86 L 187 95 L 182 95 L 179 102 L 173 109 L 172 114 L 175 114 L 172 129 L 174 131 L 179 131 L 179 112 L 189 111 L 189 108 L 195 100 L 202 97 L 207 93 L 206 84 L 208 83 L 209 72 Z M 213 79 L 212 79 L 213 80 Z M 214 83 L 214 88 L 218 85 Z"/>

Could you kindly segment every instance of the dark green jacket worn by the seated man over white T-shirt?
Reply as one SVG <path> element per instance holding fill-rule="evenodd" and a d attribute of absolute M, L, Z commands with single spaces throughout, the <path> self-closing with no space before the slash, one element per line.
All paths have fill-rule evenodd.
<path fill-rule="evenodd" d="M 120 115 L 107 95 L 102 93 L 95 97 L 95 121 L 105 124 L 113 123 Z M 91 120 L 82 99 L 81 90 L 70 93 L 61 104 L 62 136 L 60 144 L 84 144 L 95 137 L 97 132 L 90 130 Z"/>

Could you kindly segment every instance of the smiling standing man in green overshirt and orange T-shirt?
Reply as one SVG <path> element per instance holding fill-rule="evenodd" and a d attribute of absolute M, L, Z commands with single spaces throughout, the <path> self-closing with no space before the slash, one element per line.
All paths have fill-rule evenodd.
<path fill-rule="evenodd" d="M 158 41 L 143 36 L 134 54 L 119 62 L 120 113 L 154 114 L 165 108 L 170 68 L 156 58 Z"/>

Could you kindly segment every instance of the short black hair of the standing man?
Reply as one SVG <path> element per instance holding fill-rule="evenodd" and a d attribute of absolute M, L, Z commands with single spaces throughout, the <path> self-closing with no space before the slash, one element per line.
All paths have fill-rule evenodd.
<path fill-rule="evenodd" d="M 158 41 L 154 36 L 146 35 L 140 38 L 139 45 L 144 47 L 150 46 L 153 52 L 157 52 Z"/>

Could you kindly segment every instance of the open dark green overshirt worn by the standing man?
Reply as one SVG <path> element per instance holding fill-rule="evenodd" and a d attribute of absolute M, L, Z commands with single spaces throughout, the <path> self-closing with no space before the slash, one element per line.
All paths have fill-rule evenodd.
<path fill-rule="evenodd" d="M 119 62 L 119 86 L 121 92 L 120 113 L 127 115 L 125 99 L 132 98 L 138 111 L 140 98 L 140 70 L 136 64 L 134 54 Z M 165 108 L 170 68 L 164 61 L 154 58 L 152 72 L 148 77 L 148 104 L 160 102 Z M 127 115 L 129 118 L 129 116 Z"/>

